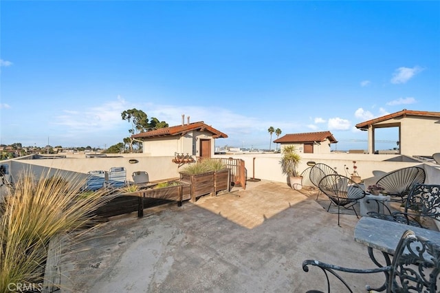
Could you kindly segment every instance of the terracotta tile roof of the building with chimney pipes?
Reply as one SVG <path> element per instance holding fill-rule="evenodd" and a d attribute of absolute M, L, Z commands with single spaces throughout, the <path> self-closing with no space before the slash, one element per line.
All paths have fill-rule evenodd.
<path fill-rule="evenodd" d="M 131 137 L 142 139 L 142 138 L 157 138 L 160 136 L 185 135 L 186 133 L 195 130 L 209 131 L 210 133 L 212 133 L 212 138 L 228 138 L 228 135 L 226 135 L 221 131 L 218 131 L 217 129 L 214 129 L 213 127 L 210 127 L 209 125 L 203 123 L 203 121 L 192 122 L 190 124 L 183 124 L 172 127 L 159 128 L 152 131 L 137 133 L 135 135 L 131 135 Z"/>

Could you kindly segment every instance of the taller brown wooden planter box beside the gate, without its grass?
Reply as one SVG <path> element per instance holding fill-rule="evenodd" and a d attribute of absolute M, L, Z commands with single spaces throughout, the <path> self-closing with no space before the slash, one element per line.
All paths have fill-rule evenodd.
<path fill-rule="evenodd" d="M 201 174 L 180 173 L 180 181 L 191 184 L 191 202 L 201 195 L 217 195 L 219 191 L 230 190 L 230 169 L 210 171 Z"/>

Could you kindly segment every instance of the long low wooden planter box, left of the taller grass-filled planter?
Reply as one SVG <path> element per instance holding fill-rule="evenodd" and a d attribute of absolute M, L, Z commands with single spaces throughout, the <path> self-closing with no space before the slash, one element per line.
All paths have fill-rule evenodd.
<path fill-rule="evenodd" d="M 181 206 L 181 202 L 191 197 L 190 184 L 180 182 L 180 185 L 162 188 L 147 188 L 133 193 L 124 193 L 111 199 L 96 210 L 99 217 L 113 217 L 137 211 L 137 216 L 144 215 L 144 208 L 157 206 L 173 201 Z"/>

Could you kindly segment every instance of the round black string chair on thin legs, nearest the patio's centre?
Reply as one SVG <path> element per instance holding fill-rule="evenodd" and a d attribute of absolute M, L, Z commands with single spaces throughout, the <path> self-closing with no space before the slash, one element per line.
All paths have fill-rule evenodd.
<path fill-rule="evenodd" d="M 318 184 L 318 188 L 322 193 L 325 193 L 330 199 L 329 208 L 332 205 L 338 207 L 338 226 L 340 226 L 340 208 L 352 209 L 355 212 L 356 217 L 359 218 L 354 205 L 359 199 L 365 197 L 365 191 L 349 177 L 345 177 L 339 174 L 331 174 L 322 178 Z"/>

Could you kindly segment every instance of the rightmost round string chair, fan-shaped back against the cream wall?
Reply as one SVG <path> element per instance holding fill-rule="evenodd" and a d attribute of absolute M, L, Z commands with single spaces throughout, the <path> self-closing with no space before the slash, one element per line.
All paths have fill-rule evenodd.
<path fill-rule="evenodd" d="M 407 167 L 391 171 L 377 180 L 385 190 L 382 193 L 393 197 L 400 197 L 399 202 L 404 202 L 413 184 L 425 183 L 426 173 L 420 167 Z"/>

